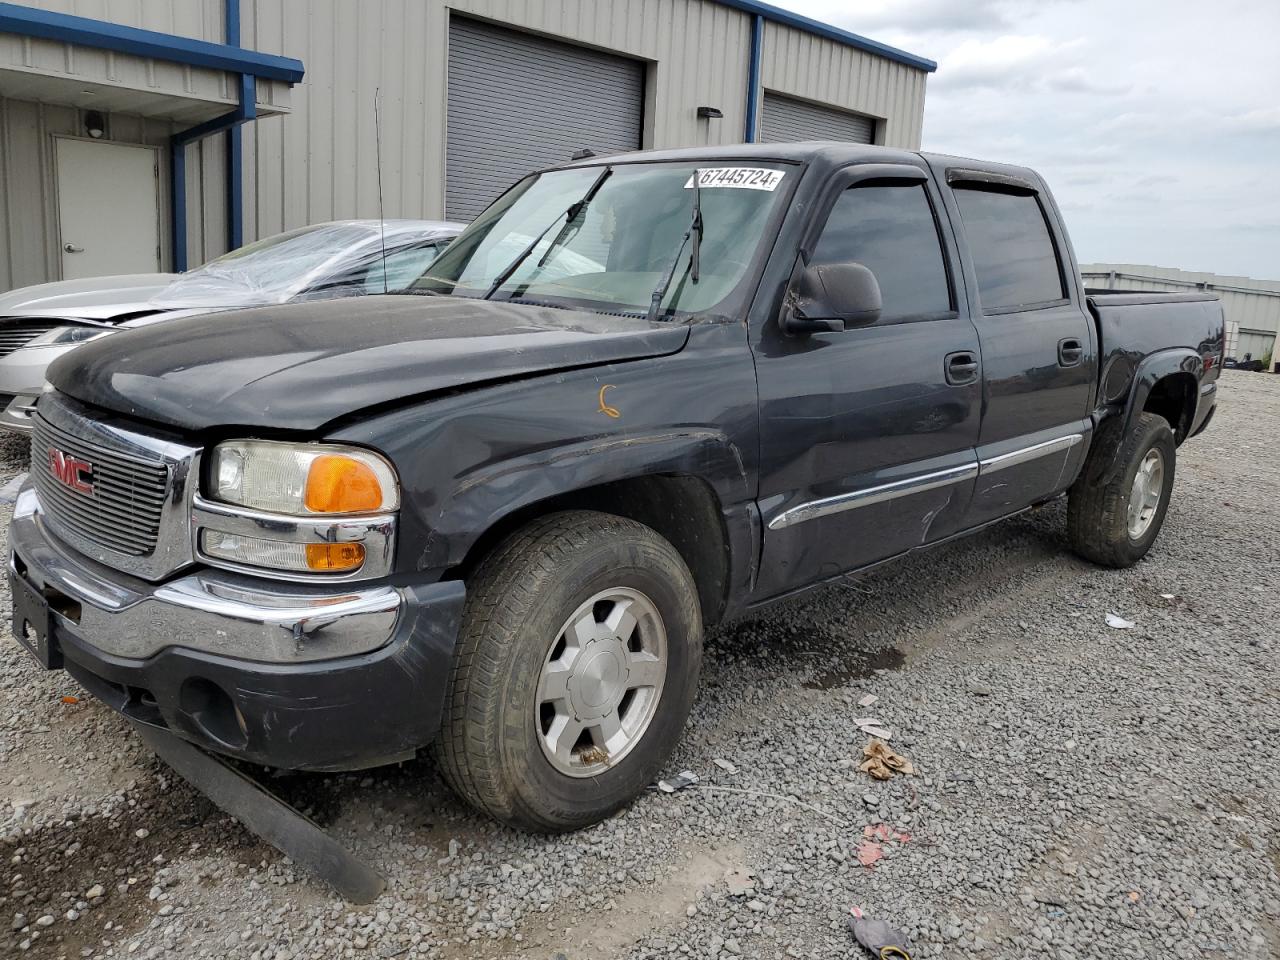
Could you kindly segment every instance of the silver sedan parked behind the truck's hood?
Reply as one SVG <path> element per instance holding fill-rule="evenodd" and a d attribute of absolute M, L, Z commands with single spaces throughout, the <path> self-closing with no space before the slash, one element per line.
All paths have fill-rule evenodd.
<path fill-rule="evenodd" d="M 337 220 L 268 237 L 184 274 L 63 280 L 0 294 L 0 430 L 31 430 L 45 371 L 81 343 L 193 314 L 402 289 L 462 227 Z"/>

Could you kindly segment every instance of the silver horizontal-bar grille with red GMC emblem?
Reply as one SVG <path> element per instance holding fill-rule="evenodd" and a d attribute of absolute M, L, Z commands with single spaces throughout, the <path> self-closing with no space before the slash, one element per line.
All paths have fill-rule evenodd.
<path fill-rule="evenodd" d="M 54 531 L 131 557 L 155 550 L 169 488 L 165 462 L 76 436 L 38 411 L 33 421 L 31 475 Z M 59 479 L 55 461 L 68 458 L 88 466 Z"/>

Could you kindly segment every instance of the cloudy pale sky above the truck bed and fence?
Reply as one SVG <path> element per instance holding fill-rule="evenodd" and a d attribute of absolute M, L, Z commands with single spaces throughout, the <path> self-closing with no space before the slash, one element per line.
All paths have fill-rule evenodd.
<path fill-rule="evenodd" d="M 924 148 L 1038 169 L 1082 262 L 1280 279 L 1280 0 L 773 0 L 938 61 Z"/>

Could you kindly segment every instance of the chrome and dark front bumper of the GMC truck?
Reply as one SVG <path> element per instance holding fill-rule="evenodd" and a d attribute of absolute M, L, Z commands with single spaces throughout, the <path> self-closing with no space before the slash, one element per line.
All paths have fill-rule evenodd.
<path fill-rule="evenodd" d="M 134 723 L 307 771 L 406 759 L 439 730 L 458 581 L 300 585 L 196 567 L 154 584 L 63 545 L 29 488 L 10 549 L 14 635 Z"/>

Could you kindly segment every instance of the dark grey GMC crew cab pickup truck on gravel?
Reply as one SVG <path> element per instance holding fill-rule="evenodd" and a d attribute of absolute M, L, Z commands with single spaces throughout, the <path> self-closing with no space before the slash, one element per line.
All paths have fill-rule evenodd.
<path fill-rule="evenodd" d="M 1032 170 L 847 143 L 517 183 L 402 296 L 177 320 L 50 371 L 14 634 L 276 768 L 434 746 L 582 827 L 662 768 L 703 632 L 1066 494 L 1152 547 L 1210 296 L 1089 294 Z"/>

